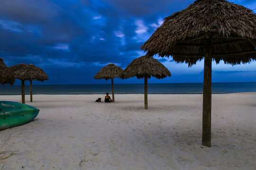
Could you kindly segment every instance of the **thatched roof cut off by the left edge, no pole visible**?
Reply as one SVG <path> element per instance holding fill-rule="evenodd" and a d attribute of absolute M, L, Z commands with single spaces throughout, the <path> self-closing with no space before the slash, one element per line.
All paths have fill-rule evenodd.
<path fill-rule="evenodd" d="M 13 72 L 4 64 L 3 59 L 0 58 L 0 84 L 13 85 L 15 82 Z"/>

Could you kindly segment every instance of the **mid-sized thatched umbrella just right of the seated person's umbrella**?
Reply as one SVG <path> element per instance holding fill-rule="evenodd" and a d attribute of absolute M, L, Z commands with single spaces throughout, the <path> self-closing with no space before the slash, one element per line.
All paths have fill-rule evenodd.
<path fill-rule="evenodd" d="M 154 76 L 158 79 L 171 76 L 170 71 L 157 59 L 142 56 L 134 59 L 122 73 L 122 79 L 137 76 L 144 78 L 144 102 L 147 109 L 147 79 Z"/>

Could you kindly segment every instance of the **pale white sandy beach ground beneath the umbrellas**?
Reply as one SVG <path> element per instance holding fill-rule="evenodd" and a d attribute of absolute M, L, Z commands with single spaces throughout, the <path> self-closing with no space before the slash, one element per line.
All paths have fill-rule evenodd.
<path fill-rule="evenodd" d="M 256 170 L 256 93 L 212 95 L 212 147 L 201 94 L 34 95 L 27 124 L 0 131 L 3 170 Z M 20 102 L 21 96 L 0 96 Z M 3 164 L 2 164 L 3 165 Z M 2 167 L 0 165 L 0 168 Z"/>

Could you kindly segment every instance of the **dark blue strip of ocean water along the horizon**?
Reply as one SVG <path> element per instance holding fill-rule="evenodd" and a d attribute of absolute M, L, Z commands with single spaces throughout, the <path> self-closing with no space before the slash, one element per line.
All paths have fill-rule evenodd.
<path fill-rule="evenodd" d="M 201 94 L 202 83 L 148 84 L 148 94 Z M 111 84 L 104 85 L 33 85 L 33 94 L 104 94 L 111 93 Z M 116 94 L 144 93 L 144 84 L 114 84 Z M 256 82 L 212 83 L 212 93 L 256 92 Z M 29 94 L 29 85 L 25 85 Z M 20 85 L 0 86 L 0 95 L 21 94 Z"/>

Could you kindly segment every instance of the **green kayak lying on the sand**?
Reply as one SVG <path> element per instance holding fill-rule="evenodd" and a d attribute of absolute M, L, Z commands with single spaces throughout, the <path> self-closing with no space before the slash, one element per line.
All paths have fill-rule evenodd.
<path fill-rule="evenodd" d="M 27 123 L 38 113 L 39 109 L 27 104 L 0 101 L 0 130 Z"/>

